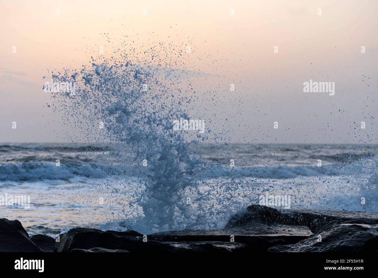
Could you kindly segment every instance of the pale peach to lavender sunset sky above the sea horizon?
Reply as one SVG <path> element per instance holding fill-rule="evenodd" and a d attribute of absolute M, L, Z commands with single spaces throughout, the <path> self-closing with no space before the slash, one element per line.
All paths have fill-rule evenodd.
<path fill-rule="evenodd" d="M 177 70 L 201 72 L 193 116 L 228 142 L 378 143 L 377 11 L 376 0 L 0 0 L 0 142 L 64 142 L 42 90 L 51 70 L 127 40 L 139 59 L 160 42 L 191 47 Z M 335 94 L 305 93 L 310 80 Z"/>

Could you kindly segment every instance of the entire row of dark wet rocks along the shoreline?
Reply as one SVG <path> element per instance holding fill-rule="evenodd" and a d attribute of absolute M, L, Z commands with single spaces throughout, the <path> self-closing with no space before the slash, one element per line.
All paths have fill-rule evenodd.
<path fill-rule="evenodd" d="M 276 210 L 250 205 L 221 230 L 137 231 L 74 228 L 58 239 L 0 219 L 0 252 L 377 252 L 378 213 Z"/>

